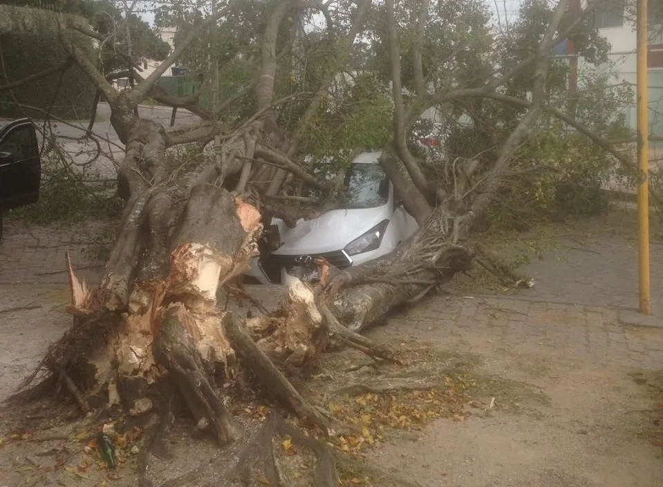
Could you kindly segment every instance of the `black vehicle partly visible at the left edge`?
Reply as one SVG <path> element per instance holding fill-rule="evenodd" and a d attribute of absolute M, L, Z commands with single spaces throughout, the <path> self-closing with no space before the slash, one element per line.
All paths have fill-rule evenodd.
<path fill-rule="evenodd" d="M 39 200 L 41 160 L 35 126 L 15 120 L 0 129 L 0 238 L 2 213 Z"/>

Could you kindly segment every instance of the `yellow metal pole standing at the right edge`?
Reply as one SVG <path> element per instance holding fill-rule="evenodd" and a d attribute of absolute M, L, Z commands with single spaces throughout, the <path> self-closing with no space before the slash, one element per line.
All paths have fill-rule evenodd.
<path fill-rule="evenodd" d="M 637 0 L 637 222 L 640 312 L 651 314 L 649 282 L 649 123 L 647 114 L 647 0 Z"/>

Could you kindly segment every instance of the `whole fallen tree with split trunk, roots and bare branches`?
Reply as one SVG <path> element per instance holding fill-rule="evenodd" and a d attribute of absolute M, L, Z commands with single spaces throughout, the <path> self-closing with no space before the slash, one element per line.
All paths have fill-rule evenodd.
<path fill-rule="evenodd" d="M 355 347 L 375 361 L 398 363 L 402 359 L 389 345 L 374 343 L 358 332 L 470 268 L 476 255 L 467 240 L 471 225 L 498 194 L 505 175 L 513 169 L 514 154 L 545 111 L 550 50 L 577 34 L 594 5 L 583 16 L 570 19 L 567 2 L 560 1 L 557 8 L 547 10 L 547 26 L 534 40 L 535 54 L 520 59 L 505 73 L 492 73 L 485 86 L 453 88 L 445 82 L 433 93 L 425 79 L 441 76 L 444 66 L 439 59 L 424 63 L 423 46 L 433 36 L 427 33 L 427 25 L 436 26 L 442 19 L 429 2 L 396 12 L 393 0 L 386 0 L 386 13 L 380 17 L 382 5 L 371 8 L 370 1 L 362 0 L 356 8 L 348 6 L 351 21 L 342 23 L 339 14 L 339 25 L 331 24 L 328 6 L 297 1 L 265 6 L 265 21 L 257 23 L 261 30 L 254 26 L 249 36 L 259 39 L 259 50 L 247 55 L 255 66 L 254 77 L 236 95 L 215 104 L 213 111 L 198 103 L 200 93 L 178 99 L 162 93 L 156 81 L 212 26 L 235 32 L 239 28 L 235 23 L 244 25 L 241 1 L 232 1 L 195 23 L 154 73 L 145 79 L 132 73 L 138 83 L 122 92 L 111 86 L 112 75 L 101 73 L 71 41 L 70 31 L 81 35 L 86 29 L 62 21 L 64 48 L 108 100 L 113 127 L 126 144 L 118 171 L 118 193 L 126 203 L 119 237 L 100 285 L 82 283 L 67 262 L 73 326 L 26 379 L 27 392 L 20 399 L 43 394 L 46 386 L 59 383 L 84 412 L 119 406 L 131 417 L 156 414 L 151 435 L 155 440 L 145 447 L 150 452 L 156 448 L 158 432 L 171 421 L 167 405 L 175 390 L 196 428 L 209 432 L 223 446 L 239 438 L 239 427 L 224 401 L 224 394 L 233 389 L 222 386 L 250 377 L 250 387 L 259 387 L 324 436 L 344 426 L 303 397 L 293 387 L 293 378 L 315 372 L 320 354 L 330 343 Z M 304 75 L 306 79 L 295 93 L 277 97 L 277 79 L 283 75 L 279 61 L 295 59 L 297 47 L 293 39 L 283 41 L 283 30 L 289 32 L 292 17 L 303 21 L 304 12 L 310 9 L 326 12 L 331 22 L 328 28 L 334 32 L 332 39 L 326 39 L 333 46 L 333 55 L 321 66 L 321 75 L 315 73 L 313 80 Z M 376 29 L 380 45 L 388 53 L 391 77 L 393 130 L 382 147 L 380 163 L 420 229 L 393 253 L 359 267 L 339 271 L 324 259 L 317 260 L 318 285 L 295 285 L 275 312 L 239 323 L 219 309 L 217 294 L 221 288 L 238 287 L 237 278 L 259 254 L 263 222 L 272 216 L 286 222 L 316 216 L 344 196 L 339 178 L 319 178 L 303 154 L 310 149 L 308 131 L 326 113 L 339 73 L 351 66 L 347 59 L 353 43 L 368 30 L 367 17 L 380 19 Z M 404 17 L 415 25 L 413 79 L 409 83 L 414 95 L 409 101 L 404 99 L 401 66 Z M 87 33 L 102 42 L 114 42 L 113 35 L 99 39 L 97 32 Z M 313 44 L 324 40 L 316 39 Z M 238 49 L 248 46 L 252 46 L 250 41 Z M 459 72 L 471 68 L 478 58 L 472 57 L 469 66 L 458 61 Z M 527 86 L 531 98 L 519 107 L 523 111 L 499 141 L 491 160 L 477 156 L 456 164 L 457 160 L 433 159 L 438 165 L 431 167 L 413 155 L 409 134 L 420 113 L 473 99 L 499 100 L 498 88 L 524 75 L 531 77 Z M 214 76 L 209 73 L 209 78 Z M 314 82 L 315 89 L 308 89 Z M 207 89 L 207 84 L 203 86 L 201 89 Z M 203 121 L 185 128 L 164 128 L 142 119 L 136 109 L 146 97 L 186 107 Z M 235 115 L 226 115 L 248 97 L 252 100 L 245 103 L 251 108 L 249 115 L 239 123 Z M 506 104 L 518 105 L 512 99 Z M 296 115 L 294 128 L 283 121 L 287 118 L 283 114 Z M 172 157 L 169 151 L 183 144 L 198 148 L 214 144 L 214 150 L 185 160 Z M 300 183 L 315 189 L 319 198 L 302 197 L 294 190 Z M 306 204 L 299 204 L 301 201 Z M 498 273 L 503 270 L 488 267 Z M 256 462 L 271 485 L 283 484 L 271 452 L 275 435 L 289 435 L 315 453 L 319 462 L 316 485 L 337 485 L 334 458 L 324 441 L 301 434 L 277 416 L 265 423 L 256 443 L 241 455 L 235 473 L 245 484 L 255 483 Z M 149 484 L 148 464 L 149 453 L 141 461 L 142 485 Z"/>

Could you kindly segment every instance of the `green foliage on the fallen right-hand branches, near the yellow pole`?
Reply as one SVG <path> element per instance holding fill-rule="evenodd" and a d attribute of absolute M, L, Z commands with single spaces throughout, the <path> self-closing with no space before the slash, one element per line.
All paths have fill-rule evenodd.
<path fill-rule="evenodd" d="M 553 10 L 545 0 L 526 0 L 510 28 L 495 37 L 496 49 L 485 51 L 485 59 L 508 70 L 536 53 Z M 574 19 L 568 13 L 558 32 Z M 616 81 L 608 64 L 608 43 L 597 30 L 586 25 L 572 38 L 585 62 L 581 64 L 575 118 L 596 135 L 608 140 L 628 135 L 625 109 L 633 103 L 633 90 Z M 592 64 L 600 66 L 593 67 Z M 532 64 L 510 79 L 501 93 L 527 99 L 534 79 Z M 568 99 L 569 65 L 566 58 L 549 61 L 546 103 L 565 111 Z M 485 77 L 487 83 L 490 77 Z M 479 79 L 478 85 L 482 81 Z M 459 99 L 446 107 L 446 164 L 478 161 L 480 174 L 496 162 L 499 149 L 519 123 L 527 108 L 492 99 Z M 506 229 L 527 229 L 536 222 L 594 215 L 606 211 L 608 198 L 602 187 L 617 174 L 613 157 L 585 135 L 543 113 L 532 126 L 530 137 L 516 151 L 483 225 Z M 480 175 L 476 192 L 483 188 Z"/>

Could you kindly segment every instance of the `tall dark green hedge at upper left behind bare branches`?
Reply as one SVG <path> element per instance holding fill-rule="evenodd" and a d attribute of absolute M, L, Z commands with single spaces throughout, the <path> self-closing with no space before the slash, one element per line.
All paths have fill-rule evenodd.
<path fill-rule="evenodd" d="M 66 52 L 57 41 L 57 32 L 44 30 L 41 35 L 19 32 L 0 34 L 4 66 L 0 70 L 0 84 L 15 82 L 39 73 L 48 66 L 57 66 L 66 60 Z M 88 45 L 91 52 L 91 44 Z M 48 59 L 48 65 L 44 60 Z M 58 117 L 81 120 L 89 115 L 95 89 L 88 77 L 77 66 L 70 66 L 66 73 L 50 75 L 37 82 L 0 91 L 0 115 L 38 119 L 44 113 L 24 109 L 15 104 L 26 104 L 49 111 Z"/>

